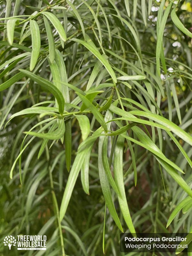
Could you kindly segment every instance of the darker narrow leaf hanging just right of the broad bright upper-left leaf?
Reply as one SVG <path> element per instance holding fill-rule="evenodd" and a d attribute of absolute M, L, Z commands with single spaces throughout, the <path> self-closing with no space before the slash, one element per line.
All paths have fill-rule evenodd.
<path fill-rule="evenodd" d="M 49 58 L 50 58 L 51 62 L 53 62 L 55 59 L 54 37 L 53 37 L 51 26 L 49 25 L 49 21 L 47 20 L 47 18 L 45 16 L 43 17 L 43 19 L 44 19 L 44 24 L 45 24 L 45 28 L 46 28 L 46 32 L 47 32 L 47 39 L 48 39 L 48 43 L 49 43 Z"/>

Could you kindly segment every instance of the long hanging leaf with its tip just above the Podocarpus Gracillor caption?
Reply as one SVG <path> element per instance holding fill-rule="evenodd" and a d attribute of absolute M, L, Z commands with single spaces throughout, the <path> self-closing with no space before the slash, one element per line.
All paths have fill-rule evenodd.
<path fill-rule="evenodd" d="M 114 153 L 114 176 L 115 176 L 115 182 L 117 184 L 117 188 L 121 193 L 121 197 L 118 196 L 119 205 L 123 213 L 123 217 L 127 224 L 127 227 L 129 228 L 130 232 L 133 234 L 136 232 L 132 223 L 129 207 L 127 204 L 127 198 L 125 195 L 125 188 L 124 188 L 123 148 L 124 148 L 124 138 L 121 136 L 118 136 L 116 141 L 116 146 L 115 146 L 115 153 Z"/>

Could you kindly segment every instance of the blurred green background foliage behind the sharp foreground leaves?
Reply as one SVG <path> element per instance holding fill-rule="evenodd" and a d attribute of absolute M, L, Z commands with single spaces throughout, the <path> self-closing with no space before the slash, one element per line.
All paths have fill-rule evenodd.
<path fill-rule="evenodd" d="M 99 1 L 99 0 L 98 0 Z M 111 65 L 126 74 L 132 75 L 132 67 L 139 67 L 138 56 L 133 47 L 135 46 L 134 38 L 127 28 L 118 18 L 121 15 L 124 19 L 132 23 L 132 26 L 137 30 L 137 35 L 140 39 L 142 65 L 144 73 L 151 78 L 151 81 L 156 86 L 156 80 L 161 83 L 164 88 L 164 97 L 156 92 L 153 87 L 155 101 L 158 103 L 163 116 L 169 119 L 169 111 L 171 108 L 172 122 L 179 125 L 183 130 L 192 133 L 192 41 L 191 38 L 182 33 L 172 22 L 170 14 L 166 21 L 164 29 L 164 56 L 167 66 L 167 74 L 161 69 L 161 76 L 158 77 L 156 72 L 156 27 L 157 15 L 161 1 L 152 1 L 148 15 L 148 5 L 151 1 L 138 0 L 136 10 L 133 10 L 133 1 L 129 1 L 130 18 L 128 18 L 123 0 L 103 1 L 100 0 L 102 8 L 105 10 L 109 27 L 111 30 L 112 39 L 108 35 L 108 28 L 105 17 L 98 1 L 89 0 L 87 3 L 92 7 L 92 10 L 97 14 L 102 32 L 102 47 Z M 135 1 L 135 0 L 134 0 Z M 65 6 L 68 11 L 67 15 L 67 37 L 77 37 L 82 39 L 81 27 L 79 22 L 70 8 L 65 2 L 58 1 L 59 6 Z M 172 1 L 165 1 L 164 9 Z M 178 1 L 174 1 L 175 4 Z M 174 4 L 173 3 L 173 4 Z M 6 1 L 0 1 L 0 15 L 5 17 Z M 15 1 L 11 2 L 10 17 L 13 16 Z M 56 4 L 56 1 L 39 0 L 39 1 L 20 1 L 18 15 L 31 15 L 33 12 L 39 12 L 42 8 L 49 4 Z M 95 26 L 94 17 L 80 0 L 74 1 L 74 6 L 78 10 L 86 29 L 86 34 L 92 39 L 100 52 L 101 45 L 98 40 L 98 28 Z M 145 8 L 144 8 L 145 6 Z M 143 10 L 146 15 L 144 21 Z M 52 10 L 52 9 L 51 9 Z M 60 21 L 63 20 L 63 10 L 52 10 Z M 116 16 L 117 15 L 117 16 Z M 192 4 L 191 1 L 179 1 L 177 15 L 192 32 Z M 38 65 L 38 75 L 47 80 L 52 81 L 51 70 L 49 67 L 46 54 L 48 51 L 47 35 L 42 18 L 39 20 L 39 28 L 41 33 L 41 56 Z M 130 21 L 131 20 L 131 21 Z M 145 26 L 146 22 L 146 26 Z M 94 24 L 94 28 L 91 27 Z M 19 43 L 21 26 L 15 28 L 14 43 Z M 4 37 L 4 20 L 0 23 L 0 65 L 14 56 L 23 53 L 21 49 L 9 44 L 3 44 Z M 74 36 L 75 35 L 75 36 Z M 55 32 L 54 40 L 60 51 L 63 51 L 65 60 L 68 82 L 86 90 L 87 82 L 95 65 L 96 58 L 81 44 L 68 41 L 64 50 L 60 45 L 59 36 Z M 7 41 L 5 36 L 5 42 Z M 25 34 L 21 45 L 31 47 L 31 35 Z M 132 47 L 133 46 L 133 47 Z M 118 57 L 119 56 L 119 57 Z M 4 69 L 1 70 L 0 82 L 3 84 L 13 75 L 18 73 L 19 68 L 28 68 L 30 56 L 20 59 L 15 65 L 4 75 Z M 7 66 L 5 66 L 7 68 Z M 119 72 L 119 71 L 118 71 Z M 169 77 L 170 79 L 167 79 Z M 107 83 L 109 75 L 101 68 L 95 83 Z M 178 118 L 178 108 L 175 106 L 175 101 L 171 92 L 171 107 L 168 106 L 166 81 L 173 83 L 178 99 L 180 116 L 182 122 L 180 124 Z M 62 255 L 60 234 L 56 214 L 52 199 L 52 191 L 54 191 L 58 205 L 60 207 L 63 191 L 68 180 L 68 171 L 65 162 L 65 145 L 59 140 L 48 149 L 52 141 L 48 142 L 48 148 L 42 156 L 37 159 L 39 148 L 42 144 L 42 139 L 35 138 L 32 143 L 26 148 L 22 154 L 21 170 L 23 175 L 23 184 L 20 183 L 19 162 L 15 165 L 13 178 L 10 179 L 10 170 L 16 157 L 19 155 L 22 140 L 25 137 L 23 132 L 39 122 L 38 115 L 17 116 L 12 119 L 5 127 L 8 118 L 18 111 L 30 108 L 32 105 L 44 101 L 53 100 L 52 95 L 41 91 L 39 86 L 34 85 L 31 81 L 25 84 L 25 78 L 16 82 L 14 86 L 0 92 L 0 112 L 1 112 L 1 132 L 0 132 L 0 255 Z M 139 81 L 140 82 L 140 81 Z M 130 89 L 123 84 L 119 85 L 121 97 L 126 95 L 127 98 L 141 103 L 144 107 L 151 110 L 153 106 L 149 105 L 148 98 L 140 87 L 137 87 L 130 81 Z M 141 87 L 146 88 L 145 84 L 140 82 Z M 111 89 L 110 89 L 111 90 Z M 96 96 L 97 103 L 102 103 L 110 96 L 110 90 L 105 88 L 105 93 Z M 76 98 L 74 90 L 69 90 L 70 102 Z M 117 96 L 114 96 L 117 99 Z M 136 107 L 131 104 L 132 107 Z M 46 105 L 48 106 L 48 105 Z M 53 106 L 53 105 L 50 105 Z M 126 109 L 126 107 L 124 107 Z M 95 131 L 100 127 L 98 122 L 95 122 L 92 114 L 87 114 L 91 122 L 91 129 Z M 148 132 L 152 136 L 150 126 L 147 126 Z M 153 134 L 154 136 L 154 134 Z M 153 137 L 156 144 L 160 146 L 159 133 L 155 132 Z M 30 139 L 27 137 L 26 141 Z M 192 148 L 190 145 L 177 137 L 180 145 L 187 152 L 189 158 L 192 156 Z M 77 148 L 82 142 L 81 130 L 76 118 L 72 119 L 72 163 L 75 159 Z M 162 152 L 173 163 L 177 164 L 184 172 L 182 175 L 188 186 L 192 187 L 192 173 L 189 164 L 183 157 L 180 149 L 175 143 L 170 140 L 167 133 L 162 130 Z M 111 149 L 109 140 L 109 155 Z M 187 194 L 182 188 L 165 172 L 159 168 L 157 160 L 145 148 L 140 146 L 135 151 L 137 165 L 137 186 L 134 185 L 134 174 L 132 165 L 132 154 L 127 144 L 124 145 L 124 186 L 129 210 L 132 221 L 137 232 L 189 232 L 192 225 L 192 214 L 189 209 L 185 214 L 177 215 L 171 225 L 166 229 L 166 223 L 171 211 L 175 205 L 179 204 Z M 134 146 L 133 146 L 134 148 Z M 135 149 L 135 148 L 134 148 Z M 52 177 L 49 172 L 52 170 Z M 128 173 L 127 173 L 128 171 Z M 51 186 L 53 180 L 53 187 Z M 100 178 L 98 172 L 98 140 L 96 140 L 89 162 L 89 192 L 87 195 L 81 184 L 80 175 L 77 178 L 75 188 L 73 190 L 66 215 L 61 222 L 62 235 L 64 239 L 64 247 L 66 255 L 91 255 L 97 256 L 103 254 L 102 240 L 105 215 L 105 199 L 100 187 Z M 111 190 L 114 205 L 121 221 L 124 232 L 128 231 L 124 222 L 123 215 L 119 209 L 116 193 Z M 105 223 L 105 254 L 106 255 L 125 255 L 119 252 L 119 234 L 120 230 L 116 227 L 108 208 L 106 211 Z M 4 236 L 13 234 L 17 236 L 23 235 L 47 235 L 47 250 L 46 252 L 18 252 L 16 248 L 12 248 L 8 252 L 7 248 L 2 245 Z M 137 254 L 135 254 L 137 255 Z M 163 255 L 163 254 L 162 254 Z M 183 254 L 184 255 L 184 254 Z"/>

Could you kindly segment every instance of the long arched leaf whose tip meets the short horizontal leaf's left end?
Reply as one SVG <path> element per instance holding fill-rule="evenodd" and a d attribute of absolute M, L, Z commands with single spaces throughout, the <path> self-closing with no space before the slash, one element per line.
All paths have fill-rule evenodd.
<path fill-rule="evenodd" d="M 73 38 L 71 39 L 72 41 L 75 41 L 77 43 L 83 44 L 90 52 L 92 52 L 92 54 L 95 55 L 95 57 L 100 60 L 100 62 L 103 64 L 103 66 L 107 69 L 109 75 L 112 77 L 112 79 L 114 80 L 114 82 L 117 82 L 116 79 L 116 75 L 113 71 L 113 69 L 111 68 L 110 64 L 108 63 L 108 61 L 106 59 L 104 59 L 104 57 L 100 54 L 100 52 L 96 51 L 96 49 L 89 43 L 84 42 L 83 40 L 77 39 L 77 38 Z M 95 46 L 96 47 L 96 46 Z"/>

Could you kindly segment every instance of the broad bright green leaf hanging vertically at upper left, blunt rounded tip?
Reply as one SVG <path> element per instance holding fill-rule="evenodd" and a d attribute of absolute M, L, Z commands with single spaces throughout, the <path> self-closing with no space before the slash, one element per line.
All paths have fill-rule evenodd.
<path fill-rule="evenodd" d="M 35 65 L 39 57 L 39 52 L 41 48 L 41 37 L 40 37 L 39 26 L 37 25 L 35 20 L 30 20 L 30 29 L 31 29 L 31 38 L 32 38 L 30 71 L 32 71 L 35 68 Z"/>

